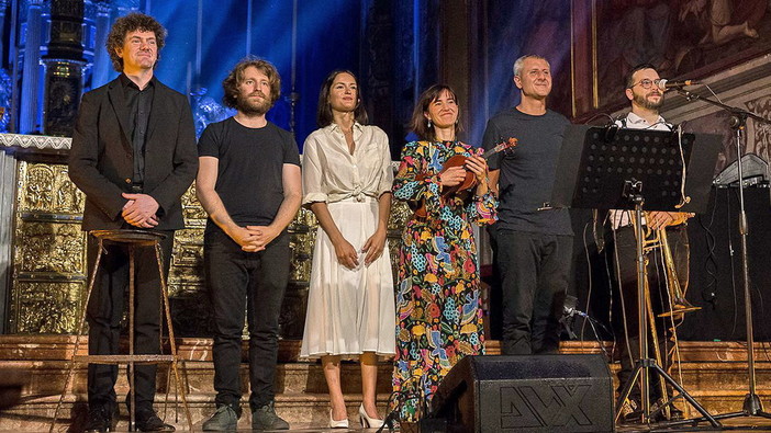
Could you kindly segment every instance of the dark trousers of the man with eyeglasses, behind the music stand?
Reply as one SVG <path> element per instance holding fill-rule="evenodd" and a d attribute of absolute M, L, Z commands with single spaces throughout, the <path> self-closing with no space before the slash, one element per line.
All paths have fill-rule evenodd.
<path fill-rule="evenodd" d="M 667 238 L 672 253 L 678 281 L 681 287 L 686 287 L 689 278 L 689 242 L 684 225 L 667 228 Z M 637 244 L 632 226 L 622 227 L 611 232 L 607 242 L 608 263 L 612 264 L 613 275 L 613 317 L 614 333 L 621 342 L 621 371 L 618 372 L 619 391 L 632 377 L 634 361 L 639 358 L 639 329 L 638 329 L 638 293 L 637 293 Z M 667 287 L 666 270 L 660 249 L 653 249 L 646 254 L 648 265 L 648 290 L 650 295 L 653 316 L 669 311 L 669 289 Z M 621 287 L 621 289 L 619 289 Z M 624 329 L 626 323 L 626 329 Z M 669 368 L 671 357 L 667 354 L 672 349 L 669 340 L 671 328 L 670 318 L 656 318 L 656 333 L 660 350 L 660 363 L 664 369 Z M 648 322 L 648 356 L 653 358 L 653 342 L 650 338 L 650 322 Z M 651 371 L 652 372 L 652 371 Z M 653 398 L 661 398 L 661 387 L 658 375 L 651 376 L 650 392 Z M 635 387 L 630 396 L 639 398 L 639 387 Z"/>

